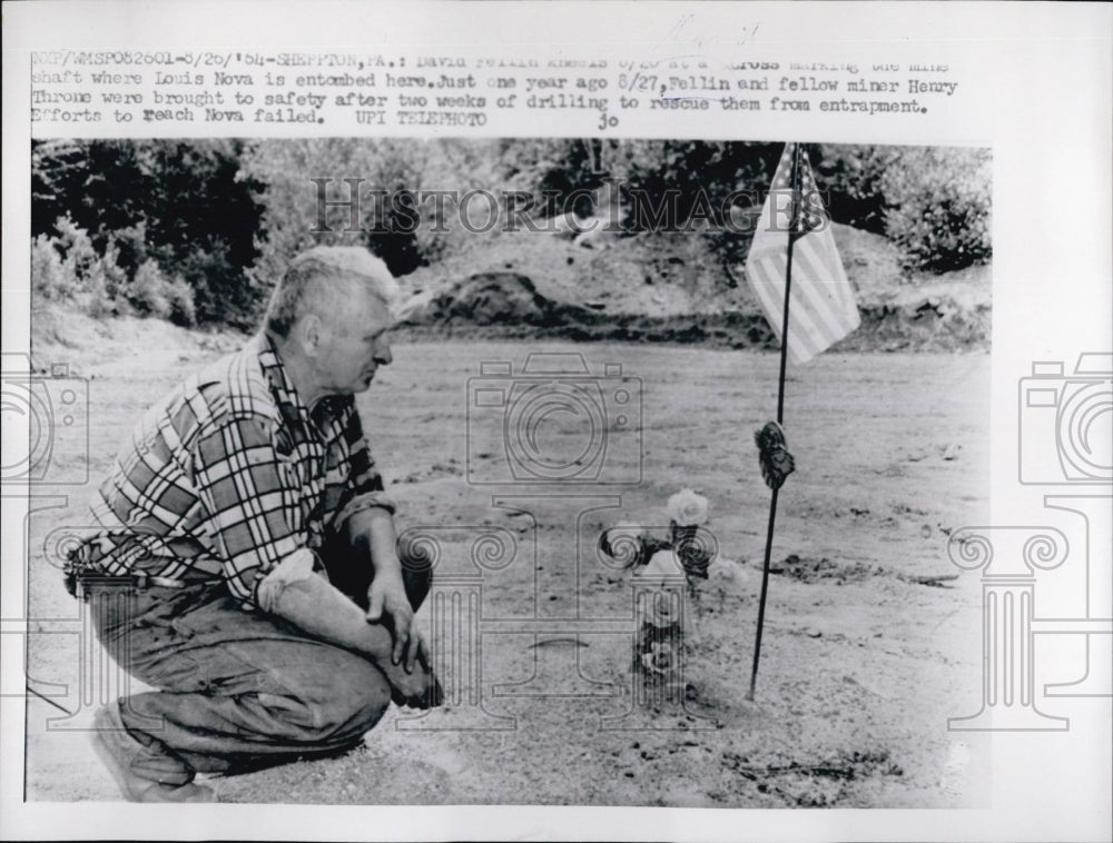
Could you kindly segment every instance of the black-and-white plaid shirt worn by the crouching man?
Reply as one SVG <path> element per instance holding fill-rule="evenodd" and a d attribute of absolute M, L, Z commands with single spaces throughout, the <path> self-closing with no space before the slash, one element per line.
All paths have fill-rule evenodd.
<path fill-rule="evenodd" d="M 370 507 L 394 512 L 352 396 L 311 413 L 259 334 L 146 413 L 79 561 L 110 575 L 223 576 L 250 609 L 275 565 Z"/>

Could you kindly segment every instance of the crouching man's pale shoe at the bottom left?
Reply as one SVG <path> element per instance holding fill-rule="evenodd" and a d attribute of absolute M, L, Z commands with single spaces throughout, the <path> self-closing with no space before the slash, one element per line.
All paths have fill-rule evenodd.
<path fill-rule="evenodd" d="M 92 727 L 92 748 L 129 801 L 216 802 L 211 787 L 193 784 L 194 772 L 185 764 L 131 736 L 118 703 L 98 711 Z"/>

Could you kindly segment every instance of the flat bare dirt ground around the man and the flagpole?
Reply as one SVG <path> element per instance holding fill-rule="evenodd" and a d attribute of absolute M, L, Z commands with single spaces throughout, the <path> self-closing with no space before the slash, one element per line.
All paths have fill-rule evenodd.
<path fill-rule="evenodd" d="M 226 335 L 199 343 L 137 320 L 109 334 L 116 339 L 78 336 L 70 348 L 37 349 L 89 378 L 93 478 L 144 407 L 238 341 Z M 628 427 L 626 439 L 638 448 L 613 450 L 608 467 L 629 478 L 640 459 L 639 485 L 561 487 L 562 497 L 552 497 L 551 488 L 467 483 L 469 379 L 482 361 L 511 361 L 516 371 L 531 351 L 580 353 L 592 373 L 620 363 L 623 376 L 640 378 L 641 424 Z M 749 703 L 769 505 L 752 430 L 775 415 L 777 363 L 768 351 L 605 343 L 396 345 L 394 365 L 359 407 L 402 504 L 400 529 L 441 530 L 445 574 L 474 573 L 467 542 L 484 529 L 503 527 L 515 543 L 509 562 L 483 573 L 480 670 L 452 673 L 444 710 L 415 716 L 392 707 L 347 755 L 214 778 L 219 799 L 985 804 L 987 744 L 946 728 L 948 716 L 978 708 L 981 586 L 969 574 L 936 585 L 917 581 L 957 573 L 947 536 L 987 517 L 989 356 L 837 353 L 790 369 L 786 430 L 798 470 L 780 496 L 757 700 Z M 632 617 L 632 575 L 603 565 L 594 542 L 619 520 L 667 523 L 666 500 L 684 486 L 710 499 L 719 551 L 737 565 L 727 568 L 731 576 L 699 586 L 683 662 L 691 688 L 681 702 L 647 691 L 633 674 L 632 625 L 621 623 Z M 48 539 L 82 523 L 93 489 L 38 490 L 66 499 L 29 522 L 32 618 L 77 615 Z M 492 496 L 531 495 L 493 505 Z M 431 612 L 422 616 L 432 623 Z M 546 624 L 530 626 L 538 618 Z M 568 618 L 611 625 L 592 632 Z M 79 665 L 90 664 L 80 641 L 30 636 L 36 686 L 75 713 L 67 718 L 28 698 L 32 801 L 119 799 L 81 731 L 96 697 L 111 693 L 104 683 L 92 683 L 83 701 L 77 693 L 89 686 L 79 683 Z"/>

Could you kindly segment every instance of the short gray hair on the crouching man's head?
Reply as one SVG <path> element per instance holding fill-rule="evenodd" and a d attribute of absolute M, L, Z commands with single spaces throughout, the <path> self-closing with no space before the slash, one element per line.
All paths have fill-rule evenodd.
<path fill-rule="evenodd" d="M 267 306 L 267 330 L 287 337 L 305 314 L 329 316 L 353 285 L 365 285 L 392 313 L 400 292 L 386 264 L 361 246 L 315 246 L 289 262 Z"/>

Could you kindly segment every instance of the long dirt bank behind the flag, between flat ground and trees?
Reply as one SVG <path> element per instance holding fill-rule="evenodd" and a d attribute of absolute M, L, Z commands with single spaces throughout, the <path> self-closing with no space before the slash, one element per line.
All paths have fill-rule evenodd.
<path fill-rule="evenodd" d="M 861 327 L 835 350 L 988 349 L 988 267 L 909 280 L 885 238 L 836 226 L 836 239 Z M 404 333 L 777 348 L 740 272 L 698 235 L 615 237 L 605 249 L 493 237 L 403 279 L 413 296 Z"/>

